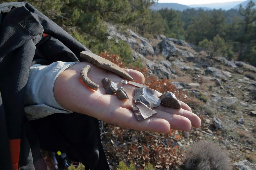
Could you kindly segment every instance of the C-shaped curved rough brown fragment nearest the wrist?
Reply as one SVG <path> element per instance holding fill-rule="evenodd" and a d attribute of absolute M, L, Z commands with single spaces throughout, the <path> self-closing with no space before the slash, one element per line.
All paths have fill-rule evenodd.
<path fill-rule="evenodd" d="M 80 71 L 80 78 L 82 80 L 82 82 L 89 88 L 93 89 L 93 90 L 98 90 L 99 89 L 99 85 L 92 82 L 88 77 L 87 77 L 87 73 L 91 70 L 91 66 L 87 65 L 85 67 L 83 67 Z"/>

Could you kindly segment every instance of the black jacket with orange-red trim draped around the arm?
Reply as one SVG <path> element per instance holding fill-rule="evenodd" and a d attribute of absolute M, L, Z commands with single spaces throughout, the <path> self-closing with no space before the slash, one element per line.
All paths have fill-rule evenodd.
<path fill-rule="evenodd" d="M 86 169 L 110 169 L 101 121 L 78 113 L 28 121 L 24 113 L 30 66 L 83 61 L 83 50 L 89 51 L 30 4 L 0 4 L 1 169 L 46 170 L 39 147 L 64 152 Z"/>

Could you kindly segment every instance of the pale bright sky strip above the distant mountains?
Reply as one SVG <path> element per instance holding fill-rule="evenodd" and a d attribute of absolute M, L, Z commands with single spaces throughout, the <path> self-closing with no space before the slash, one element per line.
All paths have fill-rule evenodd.
<path fill-rule="evenodd" d="M 224 3 L 224 2 L 234 2 L 243 0 L 158 0 L 159 3 L 179 3 L 183 5 L 197 5 L 197 4 L 207 4 L 207 3 Z"/>

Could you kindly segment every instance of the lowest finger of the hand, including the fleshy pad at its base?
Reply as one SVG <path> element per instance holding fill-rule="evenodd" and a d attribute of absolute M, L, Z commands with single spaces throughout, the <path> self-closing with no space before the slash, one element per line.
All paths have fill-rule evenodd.
<path fill-rule="evenodd" d="M 151 131 L 151 132 L 168 132 L 170 124 L 165 119 L 151 117 L 143 121 L 138 121 L 132 111 L 125 108 L 118 108 L 112 115 L 105 120 L 110 124 L 117 125 L 122 128 Z"/>

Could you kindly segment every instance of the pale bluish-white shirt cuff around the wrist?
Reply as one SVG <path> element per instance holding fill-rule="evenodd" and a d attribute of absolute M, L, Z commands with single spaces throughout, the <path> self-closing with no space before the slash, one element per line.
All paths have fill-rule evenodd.
<path fill-rule="evenodd" d="M 78 62 L 57 61 L 48 66 L 34 64 L 30 67 L 25 95 L 25 113 L 29 120 L 53 113 L 72 113 L 55 99 L 53 87 L 58 75 Z"/>

